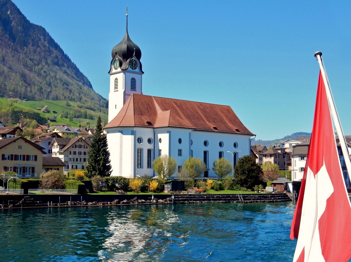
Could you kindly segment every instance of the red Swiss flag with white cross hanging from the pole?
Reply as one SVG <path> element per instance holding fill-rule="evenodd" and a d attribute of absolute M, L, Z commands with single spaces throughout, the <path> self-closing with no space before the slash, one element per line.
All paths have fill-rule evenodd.
<path fill-rule="evenodd" d="M 294 237 L 298 240 L 293 262 L 346 262 L 351 257 L 351 205 L 320 72 L 310 147 L 291 225 L 290 238 Z"/>

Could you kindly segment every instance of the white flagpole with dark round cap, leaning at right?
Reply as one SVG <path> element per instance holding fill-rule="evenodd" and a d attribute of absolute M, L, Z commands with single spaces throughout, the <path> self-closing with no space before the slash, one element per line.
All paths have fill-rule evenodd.
<path fill-rule="evenodd" d="M 324 86 L 325 86 L 325 91 L 327 93 L 327 99 L 329 102 L 329 108 L 333 117 L 333 121 L 334 121 L 334 125 L 336 128 L 336 132 L 338 134 L 338 138 L 339 138 L 339 142 L 340 142 L 340 146 L 341 146 L 341 150 L 343 152 L 343 156 L 344 156 L 344 160 L 345 160 L 345 164 L 346 164 L 346 169 L 347 169 L 347 173 L 350 174 L 351 172 L 351 159 L 350 159 L 350 154 L 349 154 L 349 150 L 347 149 L 347 145 L 345 142 L 345 137 L 344 137 L 344 132 L 340 123 L 340 118 L 338 115 L 338 111 L 336 109 L 336 105 L 335 105 L 335 101 L 333 98 L 333 94 L 331 92 L 331 88 L 330 88 L 330 84 L 325 72 L 325 68 L 324 68 L 324 64 L 323 64 L 323 60 L 322 60 L 322 52 L 316 52 L 314 53 L 314 57 L 317 58 L 319 67 L 320 67 L 320 72 L 322 73 L 322 77 L 323 77 L 323 81 L 324 81 Z M 346 186 L 345 186 L 346 189 Z"/>

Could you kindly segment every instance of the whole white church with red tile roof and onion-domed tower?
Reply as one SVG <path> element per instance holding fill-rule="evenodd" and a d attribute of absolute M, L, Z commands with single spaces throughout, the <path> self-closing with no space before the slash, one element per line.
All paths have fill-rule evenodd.
<path fill-rule="evenodd" d="M 108 96 L 108 149 L 111 176 L 158 176 L 152 162 L 158 156 L 176 159 L 180 171 L 188 157 L 203 159 L 202 177 L 217 177 L 215 159 L 236 165 L 250 155 L 254 136 L 230 106 L 143 94 L 141 50 L 128 35 L 113 47 Z M 177 172 L 172 175 L 177 177 Z"/>

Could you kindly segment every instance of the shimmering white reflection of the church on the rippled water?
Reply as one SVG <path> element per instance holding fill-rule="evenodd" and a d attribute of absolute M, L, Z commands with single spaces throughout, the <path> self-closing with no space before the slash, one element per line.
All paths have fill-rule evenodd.
<path fill-rule="evenodd" d="M 106 217 L 108 226 L 105 229 L 110 236 L 98 252 L 103 261 L 138 261 L 138 258 L 143 261 L 143 257 L 150 259 L 153 254 L 159 258 L 171 243 L 185 242 L 184 235 L 171 232 L 181 220 L 169 208 L 136 206 L 123 210 L 121 207 L 110 210 Z"/>

